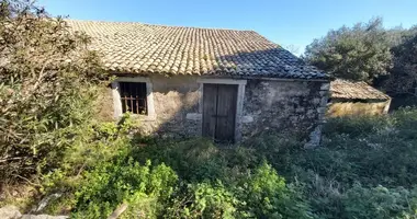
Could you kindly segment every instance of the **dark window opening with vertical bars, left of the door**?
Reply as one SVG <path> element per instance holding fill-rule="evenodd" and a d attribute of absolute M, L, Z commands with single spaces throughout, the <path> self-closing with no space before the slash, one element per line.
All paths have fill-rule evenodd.
<path fill-rule="evenodd" d="M 147 115 L 146 83 L 120 82 L 123 113 Z"/>

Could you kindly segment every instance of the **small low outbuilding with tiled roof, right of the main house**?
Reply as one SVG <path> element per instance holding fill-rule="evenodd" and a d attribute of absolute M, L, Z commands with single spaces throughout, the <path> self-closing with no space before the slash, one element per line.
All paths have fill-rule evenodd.
<path fill-rule="evenodd" d="M 391 97 L 368 83 L 337 79 L 330 83 L 327 116 L 381 115 L 390 105 Z"/>

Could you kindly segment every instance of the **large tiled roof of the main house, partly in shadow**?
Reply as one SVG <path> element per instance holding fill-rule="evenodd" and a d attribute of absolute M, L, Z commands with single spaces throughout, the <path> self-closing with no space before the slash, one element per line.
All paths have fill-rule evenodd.
<path fill-rule="evenodd" d="M 327 76 L 253 31 L 67 21 L 92 36 L 108 70 L 323 79 Z"/>

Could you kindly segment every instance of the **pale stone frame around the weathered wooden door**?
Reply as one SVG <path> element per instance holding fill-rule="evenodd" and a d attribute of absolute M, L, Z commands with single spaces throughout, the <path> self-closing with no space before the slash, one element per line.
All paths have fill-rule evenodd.
<path fill-rule="evenodd" d="M 200 97 L 199 97 L 199 113 L 203 115 L 203 91 L 204 83 L 215 83 L 215 84 L 237 84 L 237 96 L 236 96 L 236 114 L 235 114 L 235 142 L 241 139 L 241 118 L 244 116 L 244 100 L 245 100 L 245 87 L 247 80 L 244 79 L 210 79 L 201 78 L 198 79 L 200 84 Z M 203 136 L 203 119 L 201 119 L 201 136 Z"/>

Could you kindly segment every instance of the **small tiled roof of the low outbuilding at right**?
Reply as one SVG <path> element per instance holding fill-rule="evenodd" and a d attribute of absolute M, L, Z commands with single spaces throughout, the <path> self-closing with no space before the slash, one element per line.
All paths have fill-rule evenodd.
<path fill-rule="evenodd" d="M 330 82 L 331 99 L 349 100 L 390 100 L 383 92 L 365 82 L 351 82 L 337 79 Z"/>

